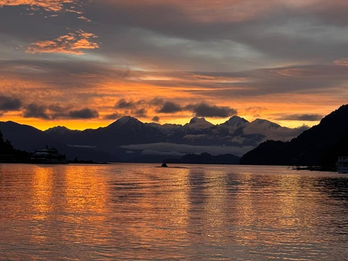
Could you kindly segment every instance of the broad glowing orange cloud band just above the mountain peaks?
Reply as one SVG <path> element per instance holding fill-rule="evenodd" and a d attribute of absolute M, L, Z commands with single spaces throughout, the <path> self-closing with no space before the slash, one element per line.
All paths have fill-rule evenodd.
<path fill-rule="evenodd" d="M 259 71 L 188 73 L 134 71 L 119 69 L 112 64 L 88 62 L 2 61 L 1 92 L 21 100 L 26 110 L 31 103 L 38 105 L 37 108 L 32 106 L 29 109 L 32 109 L 32 113 L 41 114 L 41 118 L 24 118 L 21 110 L 8 111 L 0 118 L 34 125 L 40 129 L 56 125 L 65 125 L 73 129 L 96 128 L 106 126 L 116 118 L 129 114 L 145 122 L 152 121 L 154 116 L 159 116 L 161 123 L 185 124 L 192 117 L 191 111 L 159 114 L 160 105 L 171 101 L 185 107 L 188 104 L 205 101 L 210 105 L 236 108 L 239 116 L 250 121 L 257 117 L 288 127 L 301 126 L 303 123 L 312 126 L 317 122 L 286 119 L 280 116 L 326 115 L 347 103 L 346 87 L 332 89 L 337 84 L 336 80 L 330 82 L 329 89 L 311 90 L 306 87 L 308 79 L 320 83 L 326 78 L 337 78 L 337 73 L 344 77 L 342 80 L 345 80 L 347 67 L 337 68 L 337 65 L 327 65 L 325 68 L 314 66 L 312 69 L 310 67 L 302 66 L 303 74 L 286 71 L 295 68 L 267 69 L 269 72 L 264 71 L 262 74 Z M 315 69 L 318 70 L 316 74 Z M 338 69 L 341 71 L 338 72 Z M 284 77 L 283 74 L 275 73 L 277 71 L 287 73 Z M 311 72 L 313 77 L 303 77 L 308 72 Z M 323 76 L 318 80 L 318 75 L 321 74 Z M 295 81 L 296 86 L 304 84 L 303 89 L 295 92 L 290 88 L 283 92 L 288 75 L 292 76 L 291 82 Z M 300 81 L 296 77 L 299 77 Z M 283 81 L 284 78 L 286 81 Z M 280 80 L 279 85 L 282 87 L 280 92 L 270 92 L 269 86 L 273 85 L 275 79 Z M 270 81 L 265 82 L 265 80 Z M 258 91 L 255 86 L 267 88 L 267 92 L 255 94 L 254 92 Z M 273 88 L 279 89 L 277 86 Z M 255 91 L 247 92 L 247 88 L 253 88 Z M 240 95 L 240 92 L 243 95 Z M 125 100 L 125 104 L 120 106 L 119 101 L 122 99 Z M 162 100 L 161 104 L 159 100 Z M 43 113 L 41 106 L 46 108 Z M 97 111 L 99 117 L 81 119 L 66 116 L 71 116 L 67 111 L 86 112 L 86 107 L 94 112 L 92 115 L 97 115 L 95 112 Z M 208 118 L 208 120 L 218 124 L 226 118 Z"/>

